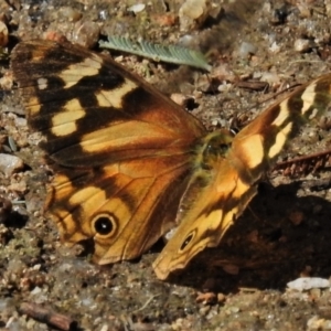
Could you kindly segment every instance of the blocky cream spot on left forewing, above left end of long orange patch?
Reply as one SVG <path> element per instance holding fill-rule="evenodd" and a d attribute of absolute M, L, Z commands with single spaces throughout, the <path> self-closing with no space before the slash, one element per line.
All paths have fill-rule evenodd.
<path fill-rule="evenodd" d="M 52 118 L 52 134 L 56 137 L 63 137 L 76 131 L 76 120 L 86 115 L 78 99 L 67 102 L 62 111 Z"/>

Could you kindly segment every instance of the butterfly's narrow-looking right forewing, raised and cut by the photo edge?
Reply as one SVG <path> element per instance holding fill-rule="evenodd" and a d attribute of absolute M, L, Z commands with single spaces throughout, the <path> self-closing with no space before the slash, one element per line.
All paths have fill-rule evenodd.
<path fill-rule="evenodd" d="M 295 89 L 245 127 L 234 139 L 229 158 L 248 182 L 256 182 L 308 121 L 317 122 L 331 105 L 331 75 Z"/>

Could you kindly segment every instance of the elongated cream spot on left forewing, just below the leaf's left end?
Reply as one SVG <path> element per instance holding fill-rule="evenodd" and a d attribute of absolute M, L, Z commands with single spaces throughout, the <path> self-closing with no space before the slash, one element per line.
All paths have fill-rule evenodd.
<path fill-rule="evenodd" d="M 102 63 L 97 56 L 87 57 L 83 62 L 74 63 L 64 70 L 58 77 L 64 82 L 63 88 L 70 88 L 86 76 L 95 76 L 102 68 Z"/>

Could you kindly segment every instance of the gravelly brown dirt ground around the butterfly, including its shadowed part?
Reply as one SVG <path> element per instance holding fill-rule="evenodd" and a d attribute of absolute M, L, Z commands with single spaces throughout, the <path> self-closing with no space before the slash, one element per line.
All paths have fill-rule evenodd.
<path fill-rule="evenodd" d="M 330 72 L 328 0 L 214 1 L 209 15 L 192 25 L 180 11 L 183 2 L 149 1 L 132 13 L 127 11 L 135 4 L 129 0 L 0 1 L 0 19 L 10 36 L 2 53 L 10 54 L 19 40 L 43 38 L 45 32 L 87 46 L 102 33 L 200 47 L 213 65 L 210 78 L 194 70 L 113 55 L 166 94 L 194 99 L 188 104 L 190 111 L 211 130 L 234 118 L 249 121 L 278 92 Z M 79 247 L 64 247 L 55 225 L 43 216 L 51 172 L 41 166 L 38 137 L 29 132 L 11 88 L 6 56 L 1 74 L 1 152 L 23 162 L 0 171 L 1 330 L 53 330 L 20 313 L 23 302 L 40 305 L 32 310 L 44 322 L 55 312 L 70 317 L 76 321 L 72 330 L 331 329 L 330 287 L 287 288 L 300 276 L 331 275 L 330 169 L 296 179 L 270 173 L 220 247 L 203 252 L 168 281 L 158 280 L 151 268 L 162 243 L 139 260 L 95 266 Z M 248 88 L 239 87 L 243 82 Z M 256 82 L 268 84 L 255 88 Z M 302 129 L 284 159 L 328 147 L 330 125 L 314 125 Z M 40 307 L 53 313 L 45 318 Z"/>

